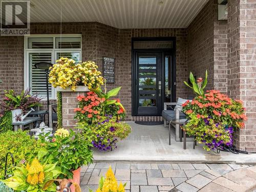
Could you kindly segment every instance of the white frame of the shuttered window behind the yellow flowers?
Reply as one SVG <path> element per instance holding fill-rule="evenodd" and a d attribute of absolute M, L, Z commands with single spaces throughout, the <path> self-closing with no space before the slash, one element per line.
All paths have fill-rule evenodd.
<path fill-rule="evenodd" d="M 28 49 L 28 38 L 29 37 L 52 37 L 53 38 L 53 49 Z M 57 53 L 77 53 L 79 52 L 80 58 L 82 60 L 82 35 L 81 34 L 61 34 L 61 37 L 80 37 L 81 38 L 81 48 L 80 49 L 56 49 L 55 48 L 55 38 L 60 37 L 60 34 L 31 34 L 25 35 L 24 37 L 24 89 L 29 88 L 29 53 L 51 53 L 52 54 L 52 63 L 55 63 L 57 60 Z M 55 100 L 57 99 L 57 91 L 52 86 L 52 96 L 50 99 Z M 44 98 L 42 100 L 46 100 Z"/>

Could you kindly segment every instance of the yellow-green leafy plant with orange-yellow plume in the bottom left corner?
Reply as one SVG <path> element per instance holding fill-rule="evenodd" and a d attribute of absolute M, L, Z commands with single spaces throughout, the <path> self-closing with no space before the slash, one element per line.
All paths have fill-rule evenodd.
<path fill-rule="evenodd" d="M 35 158 L 31 164 L 27 164 L 26 168 L 15 168 L 14 176 L 3 181 L 13 190 L 27 192 L 56 190 L 56 185 L 54 183 L 45 187 L 48 181 L 56 179 L 61 173 L 59 167 L 56 167 L 56 163 L 42 165 L 37 158 Z"/>

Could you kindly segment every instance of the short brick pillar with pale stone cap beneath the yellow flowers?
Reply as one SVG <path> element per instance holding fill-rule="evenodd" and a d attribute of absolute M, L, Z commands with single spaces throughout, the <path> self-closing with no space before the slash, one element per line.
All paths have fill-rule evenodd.
<path fill-rule="evenodd" d="M 77 86 L 75 91 L 72 91 L 70 88 L 57 87 L 57 91 L 62 93 L 62 126 L 65 129 L 73 129 L 77 123 L 77 120 L 74 120 L 74 109 L 78 106 L 77 96 L 86 95 L 89 89 L 86 86 Z"/>

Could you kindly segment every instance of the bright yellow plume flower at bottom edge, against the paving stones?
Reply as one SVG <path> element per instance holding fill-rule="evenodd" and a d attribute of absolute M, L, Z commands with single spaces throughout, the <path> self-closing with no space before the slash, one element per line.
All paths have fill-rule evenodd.
<path fill-rule="evenodd" d="M 117 184 L 117 180 L 115 178 L 115 175 L 111 169 L 111 166 L 106 172 L 106 178 L 101 177 L 99 180 L 99 188 L 96 190 L 96 192 L 124 192 L 125 184 L 122 184 L 122 182 Z M 92 189 L 89 189 L 90 192 L 93 192 Z"/>

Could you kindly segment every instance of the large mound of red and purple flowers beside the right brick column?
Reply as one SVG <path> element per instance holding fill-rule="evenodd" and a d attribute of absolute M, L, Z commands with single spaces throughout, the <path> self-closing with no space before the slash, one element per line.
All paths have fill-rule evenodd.
<path fill-rule="evenodd" d="M 182 105 L 189 121 L 183 127 L 188 135 L 204 143 L 205 150 L 232 145 L 232 133 L 244 127 L 245 108 L 241 100 L 233 100 L 217 90 L 197 95 Z"/>

